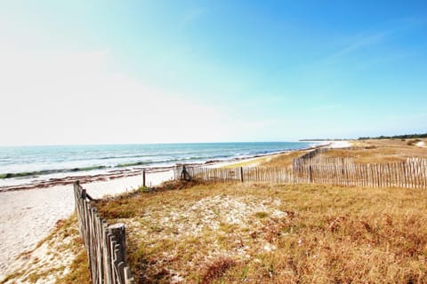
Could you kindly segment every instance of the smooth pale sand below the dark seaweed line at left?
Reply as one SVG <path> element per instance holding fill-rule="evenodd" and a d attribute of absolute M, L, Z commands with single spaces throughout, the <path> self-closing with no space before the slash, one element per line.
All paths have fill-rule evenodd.
<path fill-rule="evenodd" d="M 173 171 L 147 174 L 147 185 L 171 179 Z M 141 175 L 82 185 L 93 198 L 137 188 Z M 0 280 L 12 272 L 20 253 L 35 248 L 55 223 L 74 211 L 73 185 L 0 193 Z"/>

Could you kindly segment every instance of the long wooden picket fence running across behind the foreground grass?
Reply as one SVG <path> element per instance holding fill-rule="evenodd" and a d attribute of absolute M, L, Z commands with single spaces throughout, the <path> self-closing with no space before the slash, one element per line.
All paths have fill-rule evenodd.
<path fill-rule="evenodd" d="M 208 168 L 187 166 L 190 177 L 218 182 L 267 182 L 278 184 L 355 185 L 368 187 L 427 188 L 427 159 L 411 158 L 407 162 L 356 164 L 334 158 L 326 161 L 294 162 L 287 168 Z M 177 167 L 175 178 L 182 170 Z"/>

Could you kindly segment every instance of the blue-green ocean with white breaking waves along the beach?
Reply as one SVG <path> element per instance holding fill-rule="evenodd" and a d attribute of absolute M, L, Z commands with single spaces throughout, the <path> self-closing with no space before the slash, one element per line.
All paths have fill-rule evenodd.
<path fill-rule="evenodd" d="M 0 146 L 0 187 L 50 178 L 228 161 L 315 146 L 312 142 L 189 143 L 92 146 Z"/>

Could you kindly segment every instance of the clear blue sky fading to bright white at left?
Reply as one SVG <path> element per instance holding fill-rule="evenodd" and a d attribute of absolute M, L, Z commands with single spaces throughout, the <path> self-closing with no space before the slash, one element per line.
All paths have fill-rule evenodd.
<path fill-rule="evenodd" d="M 0 145 L 427 132 L 427 1 L 1 1 Z"/>

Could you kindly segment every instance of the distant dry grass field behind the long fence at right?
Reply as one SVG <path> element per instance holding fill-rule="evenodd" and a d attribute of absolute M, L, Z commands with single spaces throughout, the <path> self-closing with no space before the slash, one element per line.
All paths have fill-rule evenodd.
<path fill-rule="evenodd" d="M 408 145 L 412 140 L 383 139 L 355 141 L 356 148 L 332 149 L 325 157 L 349 157 L 356 163 L 406 162 L 407 158 L 427 158 L 427 148 Z"/>

